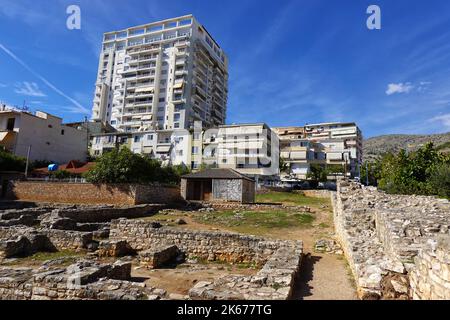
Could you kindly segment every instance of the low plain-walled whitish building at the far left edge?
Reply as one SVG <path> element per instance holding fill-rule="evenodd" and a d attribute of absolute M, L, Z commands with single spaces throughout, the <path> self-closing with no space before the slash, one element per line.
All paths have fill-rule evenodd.
<path fill-rule="evenodd" d="M 87 140 L 86 130 L 66 126 L 48 113 L 0 110 L 0 147 L 21 157 L 29 153 L 30 161 L 85 161 Z"/>

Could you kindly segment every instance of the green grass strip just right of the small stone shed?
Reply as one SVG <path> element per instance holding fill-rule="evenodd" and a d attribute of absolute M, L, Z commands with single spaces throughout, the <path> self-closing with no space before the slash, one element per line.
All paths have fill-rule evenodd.
<path fill-rule="evenodd" d="M 327 198 L 307 197 L 295 192 L 270 192 L 256 195 L 258 203 L 282 203 L 284 205 L 308 206 L 320 208 L 326 206 L 331 210 L 331 201 Z"/>

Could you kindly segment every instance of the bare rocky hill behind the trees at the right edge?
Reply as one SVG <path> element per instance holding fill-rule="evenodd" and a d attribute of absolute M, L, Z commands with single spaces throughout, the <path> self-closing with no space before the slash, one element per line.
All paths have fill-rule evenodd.
<path fill-rule="evenodd" d="M 398 152 L 401 149 L 415 151 L 429 141 L 441 151 L 450 152 L 450 132 L 433 135 L 391 134 L 365 140 L 364 159 L 374 159 L 383 153 Z"/>

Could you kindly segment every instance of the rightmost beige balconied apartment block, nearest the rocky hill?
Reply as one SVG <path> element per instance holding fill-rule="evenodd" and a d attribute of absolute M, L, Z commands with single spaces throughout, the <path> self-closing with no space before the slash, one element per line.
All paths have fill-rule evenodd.
<path fill-rule="evenodd" d="M 304 180 L 311 164 L 339 165 L 348 177 L 359 177 L 362 133 L 355 123 L 321 123 L 304 127 L 274 128 L 280 155 L 288 165 L 283 180 Z"/>

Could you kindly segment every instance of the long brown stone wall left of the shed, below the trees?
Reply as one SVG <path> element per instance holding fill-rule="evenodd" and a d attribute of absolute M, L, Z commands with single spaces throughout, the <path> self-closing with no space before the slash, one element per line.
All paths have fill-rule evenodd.
<path fill-rule="evenodd" d="M 36 202 L 112 205 L 181 201 L 178 187 L 28 181 L 10 182 L 6 198 Z"/>

